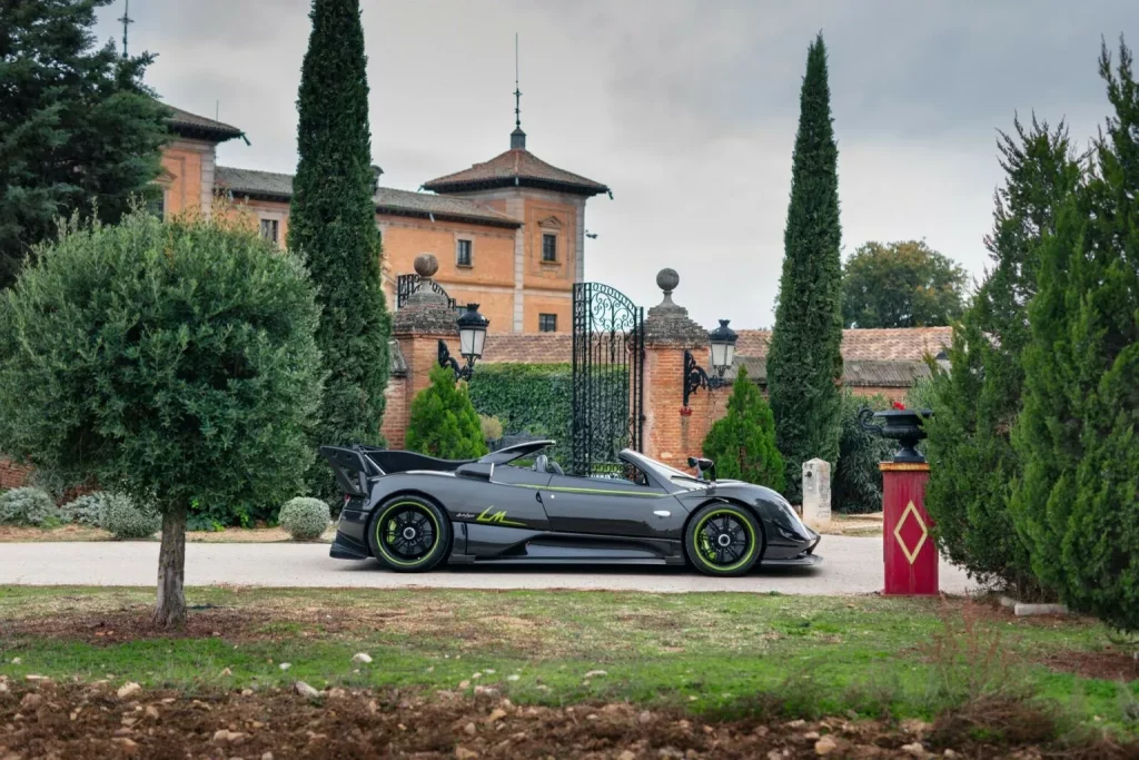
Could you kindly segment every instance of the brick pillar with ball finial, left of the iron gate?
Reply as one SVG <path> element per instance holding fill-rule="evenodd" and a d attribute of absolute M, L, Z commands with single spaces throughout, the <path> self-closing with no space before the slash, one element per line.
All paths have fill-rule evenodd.
<path fill-rule="evenodd" d="M 439 271 L 439 260 L 429 253 L 416 256 L 418 288 L 408 296 L 403 307 L 392 320 L 392 337 L 400 345 L 400 353 L 407 362 L 407 379 L 403 393 L 403 419 L 411 417 L 411 401 L 419 391 L 431 385 L 431 370 L 439 366 L 439 342 L 446 341 L 452 353 L 458 353 L 458 327 L 454 310 L 446 299 L 432 289 L 432 277 Z M 394 400 L 394 399 L 393 399 Z M 388 440 L 392 448 L 402 447 L 403 441 Z"/>

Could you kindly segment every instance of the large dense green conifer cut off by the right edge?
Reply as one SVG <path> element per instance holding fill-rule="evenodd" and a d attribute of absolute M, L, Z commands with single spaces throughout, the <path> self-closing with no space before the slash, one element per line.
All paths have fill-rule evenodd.
<path fill-rule="evenodd" d="M 1093 170 L 1040 248 L 1013 514 L 1070 606 L 1139 630 L 1139 83 L 1120 43 Z"/>

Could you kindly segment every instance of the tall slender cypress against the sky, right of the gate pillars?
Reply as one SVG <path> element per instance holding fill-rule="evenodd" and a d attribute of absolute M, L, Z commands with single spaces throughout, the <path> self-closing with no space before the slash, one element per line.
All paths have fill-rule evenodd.
<path fill-rule="evenodd" d="M 768 354 L 776 446 L 792 500 L 802 495 L 804 461 L 819 457 L 834 467 L 838 457 L 843 322 L 837 163 L 827 49 L 819 34 L 808 51 L 800 95 L 779 305 Z"/>

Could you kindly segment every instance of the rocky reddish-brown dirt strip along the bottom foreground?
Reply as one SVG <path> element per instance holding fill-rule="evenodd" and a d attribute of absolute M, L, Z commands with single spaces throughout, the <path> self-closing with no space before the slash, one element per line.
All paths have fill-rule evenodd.
<path fill-rule="evenodd" d="M 993 711 L 986 711 L 992 713 Z M 999 711 L 997 711 L 999 712 Z M 981 727 L 984 728 L 984 727 Z M 329 689 L 213 695 L 57 685 L 0 677 L 0 759 L 67 758 L 1139 758 L 1111 743 L 1039 746 L 1047 719 L 1016 714 L 1003 732 L 975 717 L 903 721 L 726 720 L 626 703 L 515 706 L 474 697 Z M 975 737 L 1003 735 L 1001 744 Z M 970 738 L 973 737 L 973 738 Z M 949 752 L 945 750 L 949 749 Z"/>

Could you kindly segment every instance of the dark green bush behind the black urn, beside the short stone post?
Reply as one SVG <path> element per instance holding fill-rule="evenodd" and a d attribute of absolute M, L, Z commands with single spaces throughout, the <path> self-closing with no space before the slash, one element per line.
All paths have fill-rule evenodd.
<path fill-rule="evenodd" d="M 863 514 L 882 512 L 882 471 L 878 465 L 894 453 L 894 446 L 880 435 L 862 430 L 858 414 L 865 407 L 888 409 L 882 394 L 854 395 L 843 391 L 842 436 L 838 439 L 838 465 L 830 479 L 835 512 Z"/>

